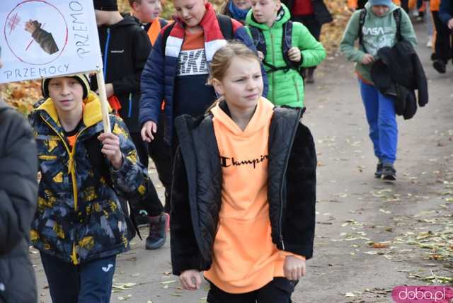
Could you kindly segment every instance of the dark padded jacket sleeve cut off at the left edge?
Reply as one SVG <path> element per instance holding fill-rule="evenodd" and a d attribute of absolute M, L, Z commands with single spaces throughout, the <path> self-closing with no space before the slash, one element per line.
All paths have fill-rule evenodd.
<path fill-rule="evenodd" d="M 38 156 L 28 122 L 0 100 L 0 303 L 36 303 L 28 259 L 38 200 Z"/>

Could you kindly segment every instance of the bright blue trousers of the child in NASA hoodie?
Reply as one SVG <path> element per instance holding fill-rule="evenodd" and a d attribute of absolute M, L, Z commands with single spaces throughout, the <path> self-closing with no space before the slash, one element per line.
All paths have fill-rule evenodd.
<path fill-rule="evenodd" d="M 359 80 L 359 84 L 374 155 L 384 164 L 394 164 L 398 144 L 394 101 L 392 98 L 384 96 L 373 85 L 365 84 L 362 80 Z"/>

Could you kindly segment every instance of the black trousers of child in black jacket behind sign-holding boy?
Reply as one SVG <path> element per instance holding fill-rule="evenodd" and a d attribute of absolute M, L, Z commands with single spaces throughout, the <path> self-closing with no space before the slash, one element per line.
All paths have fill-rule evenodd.
<path fill-rule="evenodd" d="M 138 132 L 131 133 L 130 137 L 132 138 L 132 142 L 134 142 L 135 149 L 137 149 L 139 161 L 148 168 L 148 144 L 143 141 L 142 135 Z M 138 215 L 140 210 L 145 210 L 149 216 L 159 216 L 164 211 L 164 207 L 151 179 L 147 183 L 147 191 L 148 194 L 144 198 L 129 201 L 132 206 L 133 215 Z"/>

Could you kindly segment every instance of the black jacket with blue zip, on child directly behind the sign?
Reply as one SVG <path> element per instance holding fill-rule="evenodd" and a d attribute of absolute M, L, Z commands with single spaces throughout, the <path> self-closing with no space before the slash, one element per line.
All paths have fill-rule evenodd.
<path fill-rule="evenodd" d="M 140 132 L 140 77 L 151 42 L 147 33 L 132 16 L 110 26 L 98 28 L 103 56 L 105 84 L 113 84 L 120 100 L 120 116 L 129 132 Z M 91 79 L 91 90 L 96 91 L 96 77 Z"/>

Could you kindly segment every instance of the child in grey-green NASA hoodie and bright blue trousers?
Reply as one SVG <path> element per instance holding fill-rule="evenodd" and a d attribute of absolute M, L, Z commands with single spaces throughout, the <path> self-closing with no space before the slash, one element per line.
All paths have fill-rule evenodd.
<path fill-rule="evenodd" d="M 398 127 L 395 105 L 393 98 L 384 96 L 374 86 L 370 71 L 373 62 L 378 59 L 378 50 L 382 47 L 393 47 L 398 42 L 398 27 L 401 39 L 415 46 L 417 38 L 406 11 L 391 0 L 369 0 L 365 8 L 352 14 L 340 42 L 341 52 L 348 60 L 355 62 L 355 72 L 369 124 L 369 137 L 373 143 L 374 155 L 378 159 L 374 176 L 390 181 L 396 180 L 394 162 Z M 358 49 L 354 46 L 357 39 L 360 40 Z"/>

